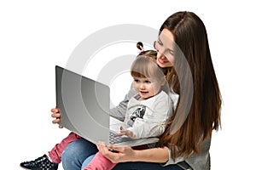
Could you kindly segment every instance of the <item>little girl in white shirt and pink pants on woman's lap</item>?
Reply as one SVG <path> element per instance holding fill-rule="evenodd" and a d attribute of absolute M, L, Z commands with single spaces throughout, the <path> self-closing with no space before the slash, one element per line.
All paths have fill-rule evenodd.
<path fill-rule="evenodd" d="M 166 77 L 156 64 L 155 56 L 156 52 L 148 50 L 131 65 L 133 88 L 137 94 L 129 100 L 125 113 L 124 122 L 130 127 L 120 127 L 118 135 L 127 135 L 131 139 L 158 137 L 166 129 L 165 122 L 172 113 L 171 99 L 162 90 Z M 134 150 L 146 148 L 146 145 L 133 147 Z M 84 170 L 110 170 L 115 165 L 98 152 Z"/>

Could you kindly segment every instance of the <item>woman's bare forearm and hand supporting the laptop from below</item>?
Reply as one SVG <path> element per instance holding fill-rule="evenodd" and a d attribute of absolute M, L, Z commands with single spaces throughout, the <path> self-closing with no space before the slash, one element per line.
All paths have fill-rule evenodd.
<path fill-rule="evenodd" d="M 166 163 L 169 160 L 169 152 L 166 147 L 152 148 L 148 150 L 133 150 L 129 146 L 110 145 L 109 147 L 104 143 L 97 144 L 98 150 L 103 156 L 113 163 L 125 161 L 147 161 L 156 163 Z M 110 151 L 115 150 L 116 152 Z"/>

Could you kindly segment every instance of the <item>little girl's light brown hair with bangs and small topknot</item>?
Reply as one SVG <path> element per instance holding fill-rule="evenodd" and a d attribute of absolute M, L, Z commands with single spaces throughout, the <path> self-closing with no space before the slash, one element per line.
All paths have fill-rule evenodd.
<path fill-rule="evenodd" d="M 143 49 L 143 43 L 137 42 L 137 48 Z M 161 84 L 166 82 L 163 70 L 156 64 L 156 54 L 154 50 L 141 51 L 131 65 L 132 77 L 143 77 L 154 79 Z"/>

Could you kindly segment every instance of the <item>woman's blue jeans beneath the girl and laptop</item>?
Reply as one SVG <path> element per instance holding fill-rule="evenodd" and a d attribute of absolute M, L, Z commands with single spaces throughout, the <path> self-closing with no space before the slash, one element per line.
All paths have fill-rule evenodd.
<path fill-rule="evenodd" d="M 83 170 L 84 167 L 91 161 L 97 152 L 96 144 L 90 143 L 86 139 L 77 139 L 62 153 L 62 166 L 65 170 Z M 119 163 L 114 170 L 182 170 L 177 165 L 169 165 L 166 167 L 160 166 L 159 163 L 149 162 L 124 162 Z"/>

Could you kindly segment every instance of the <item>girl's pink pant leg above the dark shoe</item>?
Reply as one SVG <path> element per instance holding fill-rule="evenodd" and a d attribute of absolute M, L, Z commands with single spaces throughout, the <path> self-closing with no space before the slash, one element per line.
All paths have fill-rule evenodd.
<path fill-rule="evenodd" d="M 55 163 L 60 163 L 61 162 L 61 154 L 62 154 L 63 150 L 65 150 L 65 148 L 67 147 L 68 144 L 70 144 L 74 140 L 80 139 L 80 138 L 81 137 L 76 133 L 69 133 L 65 139 L 61 140 L 60 144 L 55 144 L 55 147 L 48 152 L 51 161 L 53 161 Z"/>

